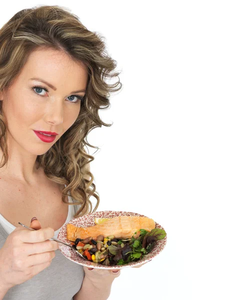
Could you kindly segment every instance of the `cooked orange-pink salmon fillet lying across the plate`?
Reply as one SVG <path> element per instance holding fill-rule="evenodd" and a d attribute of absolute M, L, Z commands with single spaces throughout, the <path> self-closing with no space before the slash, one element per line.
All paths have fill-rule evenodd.
<path fill-rule="evenodd" d="M 145 229 L 151 231 L 155 228 L 153 219 L 146 216 L 116 216 L 90 227 L 76 227 L 72 224 L 66 225 L 66 238 L 75 241 L 76 238 L 84 239 L 92 236 L 93 239 L 99 234 L 104 237 L 113 234 L 115 238 L 131 238 L 135 231 Z"/>

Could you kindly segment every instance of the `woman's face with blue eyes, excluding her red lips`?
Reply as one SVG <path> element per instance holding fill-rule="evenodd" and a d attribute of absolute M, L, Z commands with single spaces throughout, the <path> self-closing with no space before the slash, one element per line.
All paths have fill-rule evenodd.
<path fill-rule="evenodd" d="M 8 144 L 17 144 L 35 155 L 45 153 L 75 122 L 80 110 L 77 96 L 85 94 L 87 79 L 85 66 L 71 61 L 61 51 L 32 52 L 8 90 L 7 99 L 0 95 L 7 120 Z M 33 88 L 35 85 L 48 91 Z M 53 141 L 42 141 L 34 130 L 58 135 Z"/>

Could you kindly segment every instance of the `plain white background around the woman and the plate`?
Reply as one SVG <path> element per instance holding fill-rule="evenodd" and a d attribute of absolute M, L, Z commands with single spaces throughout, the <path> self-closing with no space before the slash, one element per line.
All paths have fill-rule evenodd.
<path fill-rule="evenodd" d="M 223 1 L 45 1 L 105 37 L 122 90 L 100 111 L 111 127 L 87 140 L 97 210 L 142 213 L 167 232 L 164 250 L 124 268 L 114 299 L 224 299 Z M 1 23 L 35 1 L 8 2 Z M 94 198 L 93 198 L 94 203 Z M 221 273 L 220 273 L 221 271 Z"/>

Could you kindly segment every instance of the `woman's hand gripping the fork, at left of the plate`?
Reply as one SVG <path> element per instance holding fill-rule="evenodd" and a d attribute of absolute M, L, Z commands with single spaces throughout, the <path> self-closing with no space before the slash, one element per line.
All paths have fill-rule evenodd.
<path fill-rule="evenodd" d="M 16 227 L 0 249 L 0 281 L 5 289 L 48 267 L 58 249 L 58 242 L 49 240 L 54 236 L 53 228 L 41 228 L 37 219 L 30 222 L 30 227 L 36 230 Z"/>

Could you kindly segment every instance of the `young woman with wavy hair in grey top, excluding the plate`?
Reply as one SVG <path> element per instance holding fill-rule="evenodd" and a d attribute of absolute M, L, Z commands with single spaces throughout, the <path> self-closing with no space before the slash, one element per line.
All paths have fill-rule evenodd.
<path fill-rule="evenodd" d="M 84 145 L 110 126 L 98 110 L 121 88 L 105 80 L 115 66 L 101 37 L 59 6 L 23 9 L 0 29 L 0 299 L 103 300 L 119 276 L 70 261 L 49 240 L 98 207 Z"/>

